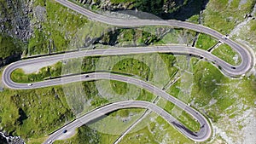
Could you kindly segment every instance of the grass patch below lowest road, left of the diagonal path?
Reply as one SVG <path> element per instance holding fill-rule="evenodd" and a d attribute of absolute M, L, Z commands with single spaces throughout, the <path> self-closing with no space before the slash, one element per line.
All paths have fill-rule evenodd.
<path fill-rule="evenodd" d="M 97 120 L 94 124 L 86 124 L 78 129 L 76 135 L 58 143 L 113 143 L 119 135 L 139 118 L 143 109 L 121 109 L 108 114 L 108 117 Z M 139 114 L 135 114 L 140 112 Z M 129 117 L 129 119 L 127 119 Z M 127 120 L 123 120 L 126 118 Z M 113 129 L 114 128 L 114 129 Z"/>

